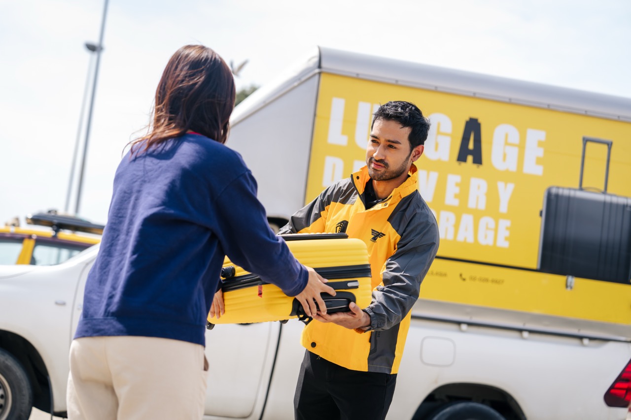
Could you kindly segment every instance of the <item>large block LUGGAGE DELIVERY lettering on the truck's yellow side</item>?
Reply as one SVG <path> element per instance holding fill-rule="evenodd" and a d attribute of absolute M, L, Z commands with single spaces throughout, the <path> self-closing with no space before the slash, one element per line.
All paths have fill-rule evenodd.
<path fill-rule="evenodd" d="M 329 133 L 327 143 L 339 146 L 348 145 L 348 135 L 343 134 L 344 114 L 346 101 L 343 98 L 333 98 L 331 102 L 331 115 L 329 119 Z M 372 102 L 357 102 L 357 119 L 355 120 L 355 144 L 365 149 L 370 136 L 370 124 L 372 115 L 379 108 L 379 104 Z M 453 124 L 448 115 L 434 112 L 428 119 L 432 123 L 425 141 L 424 155 L 432 161 L 449 161 L 452 146 Z M 457 147 L 459 163 L 471 162 L 475 165 L 483 163 L 483 142 L 481 141 L 482 123 L 477 118 L 471 117 L 465 122 L 461 143 Z M 523 173 L 530 175 L 543 175 L 543 165 L 538 159 L 543 157 L 541 142 L 545 141 L 546 132 L 536 129 L 526 130 L 524 145 Z M 499 124 L 493 130 L 490 160 L 493 168 L 500 171 L 517 172 L 519 163 L 519 130 L 511 124 Z M 469 160 L 471 156 L 471 160 Z M 488 156 L 487 156 L 488 157 Z M 365 165 L 363 160 L 353 160 L 353 172 Z M 324 174 L 322 185 L 328 187 L 336 180 L 345 177 L 347 170 L 344 160 L 340 156 L 326 156 L 324 159 Z M 435 197 L 439 171 L 418 171 L 418 190 L 423 199 L 430 203 Z M 445 178 L 445 206 L 459 207 L 461 201 L 460 184 L 463 182 L 461 175 L 447 173 Z M 506 214 L 509 210 L 510 197 L 514 192 L 513 182 L 497 182 L 497 197 L 499 213 Z M 467 207 L 473 210 L 487 210 L 488 181 L 480 177 L 469 178 Z M 464 203 L 463 203 L 464 205 Z M 433 211 L 433 210 L 432 210 Z M 457 214 L 452 211 L 441 210 L 437 215 L 440 230 L 440 238 L 455 240 L 457 242 L 473 243 L 477 240 L 481 245 L 494 245 L 496 247 L 509 247 L 509 219 L 494 219 L 490 216 L 476 216 L 475 214 Z M 476 222 L 476 218 L 480 217 Z"/>

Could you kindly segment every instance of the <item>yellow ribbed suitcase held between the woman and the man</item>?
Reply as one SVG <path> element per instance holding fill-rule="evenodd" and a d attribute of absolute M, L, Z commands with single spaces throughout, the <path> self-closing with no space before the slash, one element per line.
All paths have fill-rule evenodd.
<path fill-rule="evenodd" d="M 360 308 L 370 304 L 370 264 L 362 240 L 348 238 L 345 233 L 281 236 L 298 261 L 314 268 L 336 290 L 336 296 L 322 293 L 327 313 L 348 311 L 351 301 Z M 274 284 L 264 283 L 259 276 L 232 264 L 227 258 L 221 276 L 224 277 L 221 290 L 225 313 L 221 318 L 211 318 L 209 314 L 208 329 L 215 324 L 249 324 L 291 318 L 309 322 L 298 300 L 286 296 Z"/>

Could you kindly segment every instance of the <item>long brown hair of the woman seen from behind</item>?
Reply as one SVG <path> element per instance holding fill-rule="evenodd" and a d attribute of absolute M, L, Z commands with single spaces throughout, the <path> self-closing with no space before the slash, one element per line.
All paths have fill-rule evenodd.
<path fill-rule="evenodd" d="M 146 150 L 189 130 L 225 143 L 235 92 L 232 71 L 219 54 L 204 45 L 185 45 L 162 73 L 148 133 L 131 142 L 132 153 L 141 142 Z"/>

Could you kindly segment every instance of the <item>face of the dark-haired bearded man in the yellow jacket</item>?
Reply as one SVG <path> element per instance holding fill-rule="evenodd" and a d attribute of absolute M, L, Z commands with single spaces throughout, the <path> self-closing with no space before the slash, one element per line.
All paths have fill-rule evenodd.
<path fill-rule="evenodd" d="M 387 181 L 407 177 L 411 163 L 423 153 L 423 146 L 411 149 L 410 131 L 410 127 L 401 127 L 396 121 L 375 121 L 366 149 L 370 178 Z"/>

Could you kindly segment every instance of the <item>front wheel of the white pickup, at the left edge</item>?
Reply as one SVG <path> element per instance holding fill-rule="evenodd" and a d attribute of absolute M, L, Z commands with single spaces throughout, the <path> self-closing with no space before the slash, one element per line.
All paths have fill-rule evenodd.
<path fill-rule="evenodd" d="M 32 409 L 27 373 L 20 362 L 0 349 L 0 420 L 27 420 Z"/>

